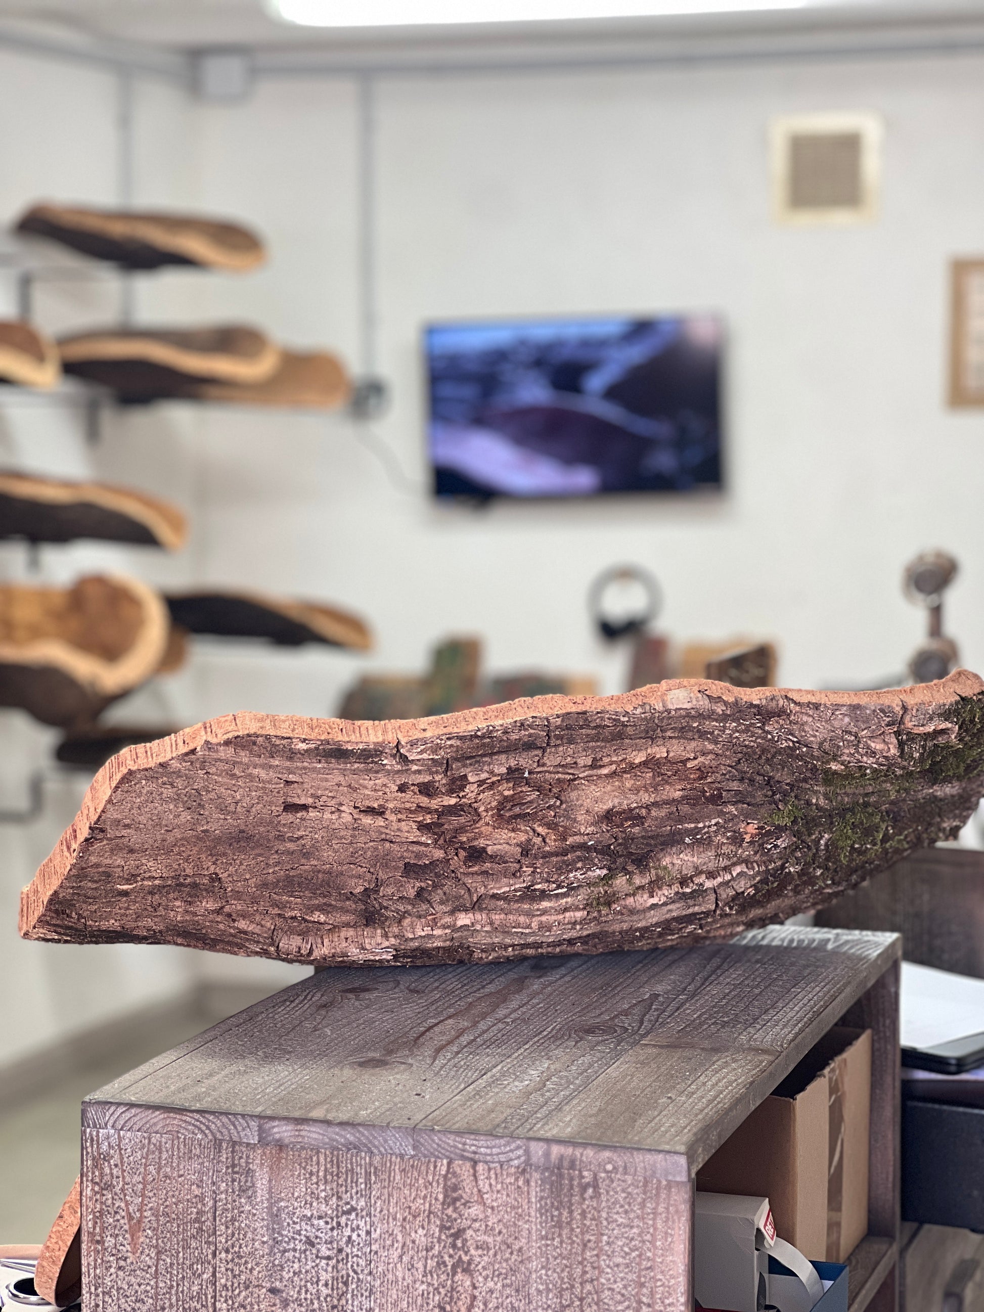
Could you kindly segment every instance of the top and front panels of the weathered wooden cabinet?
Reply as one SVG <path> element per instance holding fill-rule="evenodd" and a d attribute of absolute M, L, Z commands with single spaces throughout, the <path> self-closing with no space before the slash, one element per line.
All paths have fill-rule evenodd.
<path fill-rule="evenodd" d="M 85 1101 L 87 1312 L 691 1312 L 694 1170 L 897 955 L 302 980 Z"/>

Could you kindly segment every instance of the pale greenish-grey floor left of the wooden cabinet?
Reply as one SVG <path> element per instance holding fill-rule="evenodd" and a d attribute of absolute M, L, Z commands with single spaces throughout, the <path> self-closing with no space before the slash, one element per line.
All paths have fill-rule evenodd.
<path fill-rule="evenodd" d="M 127 1027 L 117 1048 L 102 1044 L 97 1059 L 0 1106 L 0 1244 L 41 1244 L 47 1235 L 79 1174 L 79 1106 L 87 1094 L 249 1006 L 264 992 L 237 988 L 189 997 L 142 1027 Z"/>

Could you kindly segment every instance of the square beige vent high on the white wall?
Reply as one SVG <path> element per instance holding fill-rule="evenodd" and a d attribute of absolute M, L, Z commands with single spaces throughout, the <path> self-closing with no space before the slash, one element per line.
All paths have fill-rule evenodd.
<path fill-rule="evenodd" d="M 796 114 L 771 125 L 773 207 L 779 223 L 870 223 L 878 213 L 876 114 Z"/>

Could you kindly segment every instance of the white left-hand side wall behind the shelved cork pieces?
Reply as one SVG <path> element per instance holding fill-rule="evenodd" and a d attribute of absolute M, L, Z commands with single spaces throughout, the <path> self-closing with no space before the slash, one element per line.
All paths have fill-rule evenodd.
<path fill-rule="evenodd" d="M 39 198 L 117 203 L 117 79 L 110 73 L 0 52 L 4 222 Z M 159 136 L 160 119 L 177 125 L 176 112 L 177 97 L 159 94 L 144 115 L 146 126 L 154 126 Z M 9 316 L 16 310 L 16 281 L 9 272 L 0 273 L 0 314 Z M 37 290 L 35 315 L 52 332 L 71 329 L 110 320 L 118 300 L 113 279 L 45 285 Z M 77 409 L 14 391 L 0 401 L 0 464 L 87 476 L 96 472 L 97 463 Z M 157 485 L 157 472 L 151 466 L 150 478 L 136 476 L 138 485 Z M 139 552 L 92 544 L 51 547 L 43 552 L 39 577 L 64 580 L 91 568 L 140 571 L 142 559 Z M 0 577 L 24 579 L 25 564 L 20 546 L 0 546 Z M 51 773 L 56 740 L 56 731 L 34 724 L 26 715 L 0 711 L 0 808 L 20 808 L 28 802 L 28 777 L 37 769 Z M 17 937 L 20 888 L 72 819 L 87 782 L 71 773 L 54 778 L 45 786 L 46 807 L 39 820 L 0 824 L 0 1063 L 188 987 L 188 966 L 173 949 L 64 949 Z"/>

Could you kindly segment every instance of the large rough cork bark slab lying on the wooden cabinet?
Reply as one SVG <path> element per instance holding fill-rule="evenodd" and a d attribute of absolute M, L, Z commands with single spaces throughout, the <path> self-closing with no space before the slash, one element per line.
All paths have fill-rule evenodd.
<path fill-rule="evenodd" d="M 984 792 L 983 689 L 223 716 L 108 762 L 21 933 L 408 964 L 729 935 L 955 833 Z"/>

